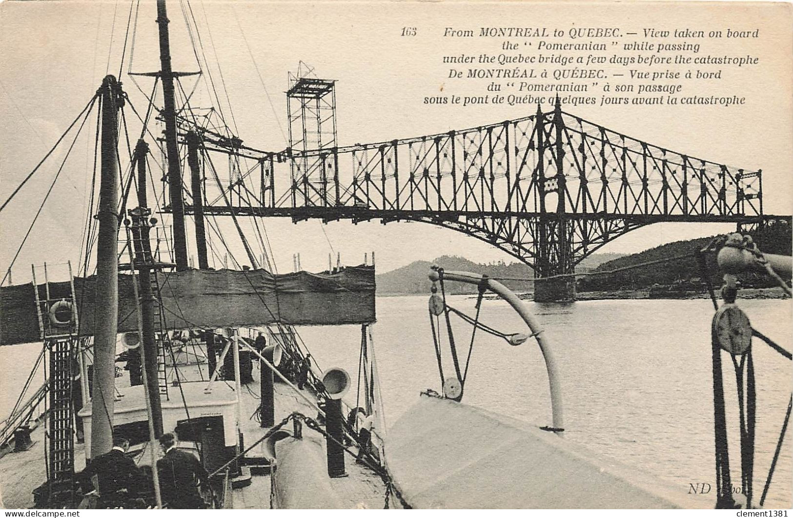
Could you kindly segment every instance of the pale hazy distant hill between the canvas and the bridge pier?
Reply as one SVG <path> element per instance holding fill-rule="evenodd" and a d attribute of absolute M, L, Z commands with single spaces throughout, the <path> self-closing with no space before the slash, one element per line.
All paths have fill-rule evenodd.
<path fill-rule="evenodd" d="M 489 265 L 481 265 L 469 261 L 464 257 L 442 256 L 435 261 L 413 261 L 411 264 L 392 270 L 391 272 L 381 273 L 376 276 L 378 295 L 409 295 L 409 294 L 429 294 L 431 282 L 427 278 L 431 265 L 439 265 L 446 270 L 460 270 L 463 272 L 476 272 L 486 274 L 491 277 L 516 277 L 519 279 L 531 279 L 534 272 L 523 263 L 505 264 L 503 261 Z M 520 282 L 515 280 L 505 280 L 504 284 L 514 291 L 531 291 L 531 282 Z M 446 284 L 446 293 L 476 293 L 477 287 L 470 284 L 449 283 Z"/>

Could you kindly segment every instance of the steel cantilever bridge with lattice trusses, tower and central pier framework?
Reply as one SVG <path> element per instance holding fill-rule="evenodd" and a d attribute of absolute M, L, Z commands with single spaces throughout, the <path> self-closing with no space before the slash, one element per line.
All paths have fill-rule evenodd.
<path fill-rule="evenodd" d="M 790 219 L 763 214 L 760 170 L 653 146 L 567 113 L 558 100 L 550 112 L 538 107 L 498 124 L 336 147 L 335 100 L 323 119 L 323 97 L 305 85 L 305 97 L 295 97 L 298 84 L 289 92 L 289 101 L 301 103 L 289 109 L 292 146 L 280 153 L 182 124 L 201 134 L 204 152 L 258 162 L 255 201 L 237 196 L 234 203 L 243 188 L 232 178 L 227 203 L 203 207 L 206 214 L 432 223 L 510 253 L 538 278 L 573 272 L 600 246 L 651 223 Z M 333 130 L 324 132 L 331 117 Z"/>

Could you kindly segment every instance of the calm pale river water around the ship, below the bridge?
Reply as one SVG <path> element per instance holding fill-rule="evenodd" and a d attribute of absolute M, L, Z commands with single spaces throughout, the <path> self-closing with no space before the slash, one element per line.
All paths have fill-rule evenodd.
<path fill-rule="evenodd" d="M 453 307 L 474 314 L 475 300 L 450 297 Z M 553 342 L 561 374 L 565 435 L 604 459 L 637 467 L 688 492 L 689 484 L 714 486 L 713 393 L 709 300 L 600 300 L 573 304 L 527 303 Z M 791 349 L 791 301 L 745 300 L 753 326 Z M 485 300 L 481 322 L 504 332 L 526 332 L 500 300 Z M 464 357 L 469 326 L 454 321 Z M 358 370 L 360 329 L 301 328 L 321 368 Z M 446 333 L 445 372 L 453 371 Z M 427 388 L 441 390 L 426 296 L 378 297 L 374 326 L 386 424 L 393 423 Z M 757 438 L 753 500 L 762 493 L 790 398 L 791 362 L 753 342 L 757 379 Z M 6 415 L 40 345 L 0 348 Z M 740 484 L 737 395 L 733 368 L 724 360 L 730 428 L 730 466 Z M 13 388 L 12 388 L 13 387 Z M 354 398 L 354 395 L 351 396 Z M 542 355 L 533 339 L 512 347 L 477 332 L 464 401 L 537 425 L 550 425 L 550 394 Z M 790 507 L 793 463 L 791 429 L 783 444 L 765 507 Z M 714 496 L 703 495 L 713 501 Z"/>

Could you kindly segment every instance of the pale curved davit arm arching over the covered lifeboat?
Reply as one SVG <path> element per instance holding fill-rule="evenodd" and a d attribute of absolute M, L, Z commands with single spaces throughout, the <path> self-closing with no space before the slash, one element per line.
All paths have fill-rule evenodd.
<path fill-rule="evenodd" d="M 430 280 L 439 280 L 441 275 L 443 276 L 444 280 L 454 280 L 466 284 L 475 284 L 477 286 L 484 282 L 490 291 L 500 295 L 500 297 L 506 300 L 512 309 L 514 309 L 520 315 L 520 318 L 523 318 L 523 322 L 526 322 L 527 326 L 529 326 L 529 329 L 531 329 L 532 336 L 537 339 L 537 343 L 540 346 L 540 351 L 542 352 L 542 357 L 545 359 L 546 370 L 548 371 L 548 383 L 550 385 L 550 404 L 554 420 L 554 432 L 561 434 L 561 432 L 563 432 L 565 429 L 564 412 L 561 402 L 561 379 L 559 377 L 556 360 L 554 358 L 554 348 L 550 344 L 546 334 L 543 333 L 540 322 L 537 320 L 534 314 L 531 313 L 526 304 L 524 304 L 523 301 L 518 298 L 518 295 L 515 295 L 515 293 L 513 293 L 509 288 L 497 280 L 488 279 L 488 277 L 482 276 L 478 273 L 449 272 L 446 270 L 443 270 L 442 274 L 436 270 L 432 270 L 430 272 Z"/>

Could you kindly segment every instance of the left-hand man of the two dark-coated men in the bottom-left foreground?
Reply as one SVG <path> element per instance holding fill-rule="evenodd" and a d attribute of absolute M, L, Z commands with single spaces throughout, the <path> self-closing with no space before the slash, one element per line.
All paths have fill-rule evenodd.
<path fill-rule="evenodd" d="M 113 449 L 93 459 L 78 476 L 80 485 L 90 492 L 94 487 L 91 477 L 96 475 L 99 505 L 102 508 L 124 507 L 130 496 L 130 488 L 137 481 L 138 468 L 132 459 L 124 455 L 127 448 L 129 440 L 121 436 L 113 437 Z"/>

